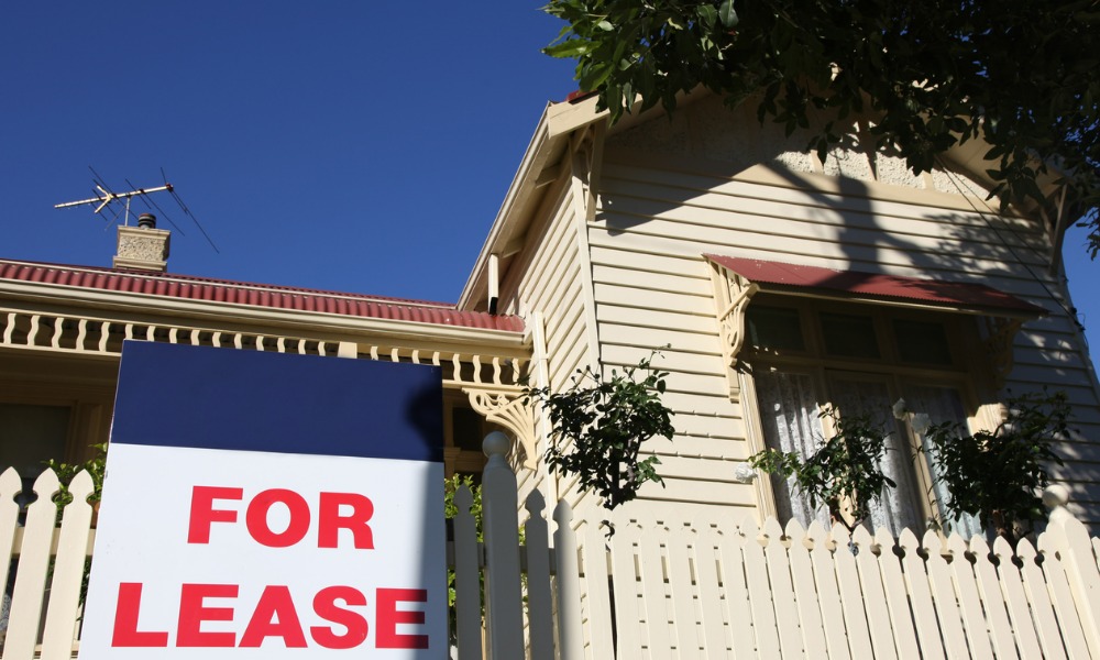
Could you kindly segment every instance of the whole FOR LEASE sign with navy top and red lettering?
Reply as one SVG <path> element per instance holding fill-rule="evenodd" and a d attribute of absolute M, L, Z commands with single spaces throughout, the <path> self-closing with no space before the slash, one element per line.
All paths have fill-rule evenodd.
<path fill-rule="evenodd" d="M 128 343 L 81 660 L 446 654 L 433 367 Z"/>

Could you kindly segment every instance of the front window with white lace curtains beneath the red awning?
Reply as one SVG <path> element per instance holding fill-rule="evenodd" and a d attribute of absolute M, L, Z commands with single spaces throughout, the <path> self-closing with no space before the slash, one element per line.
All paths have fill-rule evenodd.
<path fill-rule="evenodd" d="M 871 526 L 920 532 L 931 517 L 941 518 L 936 503 L 945 493 L 919 451 L 920 438 L 893 418 L 891 406 L 904 398 L 935 421 L 964 428 L 977 421 L 979 387 L 969 356 L 980 352 L 972 317 L 761 294 L 745 323 L 741 360 L 751 374 L 744 381 L 754 393 L 746 404 L 755 396 L 757 450 L 812 452 L 832 432 L 821 417 L 826 406 L 867 416 L 889 433 L 881 468 L 898 484 L 873 506 Z M 765 488 L 781 522 L 831 525 L 825 507 L 814 510 L 784 480 L 770 482 Z"/>

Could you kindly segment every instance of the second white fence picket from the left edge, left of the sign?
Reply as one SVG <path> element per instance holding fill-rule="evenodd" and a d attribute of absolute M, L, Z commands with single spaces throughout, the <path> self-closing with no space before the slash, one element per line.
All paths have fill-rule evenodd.
<path fill-rule="evenodd" d="M 53 470 L 46 470 L 34 481 L 38 498 L 26 510 L 3 660 L 31 660 L 34 657 L 54 540 L 54 520 L 57 517 L 57 505 L 53 502 L 57 490 L 57 475 Z"/>

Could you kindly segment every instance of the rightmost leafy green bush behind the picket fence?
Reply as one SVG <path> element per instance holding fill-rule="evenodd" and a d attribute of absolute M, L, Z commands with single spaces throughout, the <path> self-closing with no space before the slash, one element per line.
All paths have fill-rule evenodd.
<path fill-rule="evenodd" d="M 1068 435 L 1066 394 L 1041 393 L 1011 397 L 1009 415 L 993 432 L 969 436 L 953 424 L 927 431 L 937 479 L 949 492 L 942 503 L 947 516 L 978 517 L 981 526 L 1011 542 L 1046 519 L 1042 490 L 1049 484 L 1047 466 L 1062 465 L 1050 448 Z"/>

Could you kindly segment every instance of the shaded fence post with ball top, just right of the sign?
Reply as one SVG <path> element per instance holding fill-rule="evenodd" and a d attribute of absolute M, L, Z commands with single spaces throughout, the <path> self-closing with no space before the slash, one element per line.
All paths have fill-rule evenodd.
<path fill-rule="evenodd" d="M 524 602 L 519 587 L 519 499 L 516 475 L 504 460 L 512 440 L 501 431 L 485 436 L 488 457 L 482 472 L 485 534 L 485 619 L 493 660 L 524 657 Z"/>

